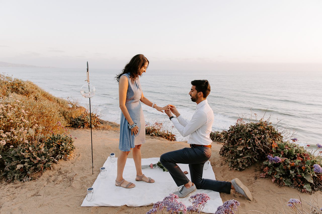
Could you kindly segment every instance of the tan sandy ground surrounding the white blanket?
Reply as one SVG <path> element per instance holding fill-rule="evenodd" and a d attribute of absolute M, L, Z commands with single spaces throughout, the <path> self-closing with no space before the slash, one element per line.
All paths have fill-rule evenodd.
<path fill-rule="evenodd" d="M 76 150 L 69 161 L 60 161 L 52 170 L 47 170 L 37 179 L 27 183 L 1 183 L 0 213 L 129 213 L 144 214 L 151 206 L 143 207 L 81 207 L 90 187 L 99 173 L 109 153 L 118 156 L 118 131 L 93 130 L 94 175 L 91 169 L 90 130 L 73 129 Z M 146 144 L 141 147 L 142 157 L 160 157 L 163 153 L 188 147 L 184 142 L 170 142 L 162 138 L 147 136 Z M 300 193 L 289 187 L 279 187 L 269 179 L 259 177 L 260 166 L 253 166 L 242 172 L 228 170 L 219 155 L 221 144 L 213 143 L 213 171 L 218 180 L 230 181 L 237 177 L 247 185 L 253 194 L 253 201 L 244 197 L 235 198 L 232 194 L 221 193 L 223 201 L 235 199 L 241 203 L 239 213 L 292 213 L 286 206 L 290 198 L 305 201 L 319 201 L 322 207 L 322 192 L 313 195 Z M 132 158 L 132 154 L 129 155 Z M 71 182 L 72 181 L 72 182 Z M 309 206 L 303 202 L 303 208 Z M 260 212 L 254 211 L 258 210 Z"/>

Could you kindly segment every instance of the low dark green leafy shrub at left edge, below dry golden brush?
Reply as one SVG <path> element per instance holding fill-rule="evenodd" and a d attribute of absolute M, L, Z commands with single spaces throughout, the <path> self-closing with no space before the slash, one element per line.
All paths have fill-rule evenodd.
<path fill-rule="evenodd" d="M 9 182 L 29 181 L 36 172 L 43 173 L 50 168 L 53 162 L 57 162 L 51 156 L 52 148 L 48 149 L 44 144 L 25 145 L 9 148 L 2 153 L 5 163 L 4 172 L 1 174 Z"/>

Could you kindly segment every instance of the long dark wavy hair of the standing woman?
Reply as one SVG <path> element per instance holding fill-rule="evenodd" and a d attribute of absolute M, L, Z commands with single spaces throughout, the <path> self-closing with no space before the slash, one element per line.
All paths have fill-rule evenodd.
<path fill-rule="evenodd" d="M 115 78 L 119 82 L 121 76 L 126 73 L 130 73 L 130 79 L 134 81 L 136 78 L 139 77 L 140 69 L 145 64 L 149 66 L 149 60 L 143 55 L 143 54 L 137 54 L 135 55 L 128 64 L 124 67 L 122 72 L 118 74 Z"/>

